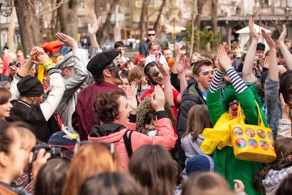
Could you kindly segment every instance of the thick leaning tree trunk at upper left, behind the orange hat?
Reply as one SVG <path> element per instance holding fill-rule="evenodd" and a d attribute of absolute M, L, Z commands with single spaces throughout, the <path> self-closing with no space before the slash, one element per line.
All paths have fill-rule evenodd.
<path fill-rule="evenodd" d="M 41 45 L 41 35 L 39 29 L 39 20 L 34 7 L 34 0 L 14 0 L 21 44 L 24 56 L 30 55 L 33 47 Z"/>

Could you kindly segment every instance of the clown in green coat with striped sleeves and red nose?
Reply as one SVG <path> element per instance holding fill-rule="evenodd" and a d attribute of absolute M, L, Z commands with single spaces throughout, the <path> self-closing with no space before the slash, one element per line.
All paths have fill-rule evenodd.
<path fill-rule="evenodd" d="M 261 101 L 257 95 L 254 95 L 257 94 L 257 89 L 254 87 L 248 88 L 244 81 L 238 76 L 237 72 L 232 67 L 230 56 L 227 56 L 225 48 L 222 45 L 220 45 L 218 49 L 218 59 L 219 68 L 212 79 L 211 85 L 207 92 L 206 100 L 212 123 L 216 126 L 218 121 L 222 124 L 228 123 L 233 119 L 238 121 L 237 111 L 240 103 L 241 118 L 245 121 L 245 123 L 258 125 L 258 110 L 256 102 L 260 106 Z M 233 86 L 228 86 L 227 89 L 224 90 L 224 97 L 222 100 L 221 83 L 225 72 L 231 79 Z M 265 116 L 261 110 L 260 114 L 265 126 L 268 127 Z M 227 134 L 229 134 L 229 132 L 227 132 Z M 209 138 L 218 139 L 218 137 Z M 204 142 L 201 145 L 203 152 L 206 151 L 204 150 L 206 144 L 211 145 L 210 143 L 214 143 L 208 138 L 206 138 Z M 221 143 L 220 146 L 221 147 L 219 147 L 218 143 L 215 147 L 213 147 L 213 151 L 215 150 L 215 171 L 225 177 L 232 189 L 234 189 L 234 179 L 239 179 L 245 186 L 246 194 L 260 195 L 261 193 L 254 189 L 253 182 L 255 178 L 254 172 L 255 170 L 262 170 L 262 164 L 259 162 L 236 159 L 234 156 L 233 147 L 231 147 L 230 144 L 224 145 Z"/>

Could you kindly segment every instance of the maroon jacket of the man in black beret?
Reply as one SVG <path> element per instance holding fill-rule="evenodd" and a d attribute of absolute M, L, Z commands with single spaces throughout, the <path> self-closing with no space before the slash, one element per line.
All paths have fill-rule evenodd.
<path fill-rule="evenodd" d="M 77 97 L 77 104 L 72 115 L 72 126 L 80 135 L 80 140 L 87 140 L 90 130 L 97 125 L 94 117 L 93 103 L 96 96 L 103 92 L 122 90 L 109 82 L 94 83 L 82 89 Z"/>

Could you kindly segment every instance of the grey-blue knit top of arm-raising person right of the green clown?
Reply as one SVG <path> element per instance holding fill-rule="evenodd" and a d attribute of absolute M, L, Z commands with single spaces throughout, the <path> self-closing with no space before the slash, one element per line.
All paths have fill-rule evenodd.
<path fill-rule="evenodd" d="M 266 109 L 269 127 L 273 131 L 274 139 L 277 137 L 278 121 L 282 117 L 282 103 L 279 96 L 279 80 L 272 80 L 269 76 L 266 79 Z M 290 117 L 292 111 L 290 110 Z"/>

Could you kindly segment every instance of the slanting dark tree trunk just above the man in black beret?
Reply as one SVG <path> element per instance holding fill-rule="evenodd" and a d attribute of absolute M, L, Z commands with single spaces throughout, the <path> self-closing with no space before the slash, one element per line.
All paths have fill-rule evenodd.
<path fill-rule="evenodd" d="M 108 28 L 111 26 L 110 18 L 111 15 L 115 12 L 115 7 L 120 3 L 120 0 L 113 0 L 110 5 L 110 11 L 108 13 L 107 19 L 102 27 L 97 31 L 97 40 L 100 45 L 103 45 L 107 40 Z"/>

